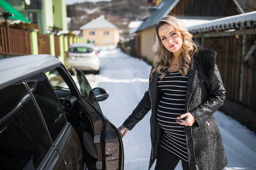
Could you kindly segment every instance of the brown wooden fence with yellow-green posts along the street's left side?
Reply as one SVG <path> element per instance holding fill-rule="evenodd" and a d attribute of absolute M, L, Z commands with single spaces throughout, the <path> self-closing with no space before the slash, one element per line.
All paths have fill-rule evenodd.
<path fill-rule="evenodd" d="M 34 35 L 34 34 L 33 34 Z M 13 29 L 9 27 L 8 22 L 4 22 L 4 26 L 0 26 L 0 53 L 19 53 L 19 54 L 51 54 L 56 57 L 62 57 L 65 52 L 65 46 L 70 46 L 72 43 L 87 43 L 88 40 L 86 38 L 73 38 L 67 36 L 68 41 L 67 44 L 61 43 L 61 38 L 64 40 L 64 36 L 54 35 L 54 40 L 52 44 L 50 42 L 51 35 L 42 35 L 37 33 L 37 44 L 33 43 L 33 38 L 31 38 L 31 31 L 29 30 L 21 30 L 21 29 Z M 36 42 L 36 41 L 34 41 Z M 36 49 L 34 49 L 36 46 Z M 31 49 L 32 48 L 32 49 Z M 51 50 L 54 49 L 54 50 Z M 32 52 L 33 51 L 33 52 Z M 36 51 L 36 52 L 34 52 Z M 52 52 L 51 52 L 52 51 Z M 55 51 L 55 53 L 53 52 Z"/>

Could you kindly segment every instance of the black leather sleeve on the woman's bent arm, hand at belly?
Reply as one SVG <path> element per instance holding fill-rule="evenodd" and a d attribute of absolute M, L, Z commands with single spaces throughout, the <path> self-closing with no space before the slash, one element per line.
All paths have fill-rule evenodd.
<path fill-rule="evenodd" d="M 214 69 L 214 79 L 206 81 L 205 85 L 207 87 L 208 97 L 198 107 L 190 111 L 195 117 L 198 126 L 204 124 L 204 122 L 209 119 L 220 106 L 222 106 L 226 99 L 226 90 L 216 64 Z"/>

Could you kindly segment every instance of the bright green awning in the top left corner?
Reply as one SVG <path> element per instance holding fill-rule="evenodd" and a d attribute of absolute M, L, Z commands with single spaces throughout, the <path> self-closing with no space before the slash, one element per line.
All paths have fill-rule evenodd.
<path fill-rule="evenodd" d="M 21 21 L 30 23 L 30 21 L 27 20 L 27 18 L 25 18 L 19 11 L 17 11 L 15 8 L 13 8 L 5 0 L 1 0 L 1 3 L 0 3 L 0 13 L 10 13 L 10 14 L 13 14 L 13 16 L 9 16 L 9 19 L 21 20 Z"/>

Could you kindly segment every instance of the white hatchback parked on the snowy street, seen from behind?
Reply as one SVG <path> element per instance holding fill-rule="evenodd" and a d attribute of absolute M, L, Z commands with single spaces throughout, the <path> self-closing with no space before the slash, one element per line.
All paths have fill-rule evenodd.
<path fill-rule="evenodd" d="M 95 50 L 93 44 L 72 44 L 66 52 L 65 64 L 68 69 L 73 66 L 81 71 L 99 73 L 98 51 Z"/>

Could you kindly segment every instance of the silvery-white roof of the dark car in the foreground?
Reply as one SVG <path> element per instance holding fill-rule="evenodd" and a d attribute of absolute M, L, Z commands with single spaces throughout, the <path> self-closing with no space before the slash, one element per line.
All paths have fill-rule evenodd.
<path fill-rule="evenodd" d="M 0 58 L 0 89 L 61 65 L 52 55 L 24 55 Z"/>

